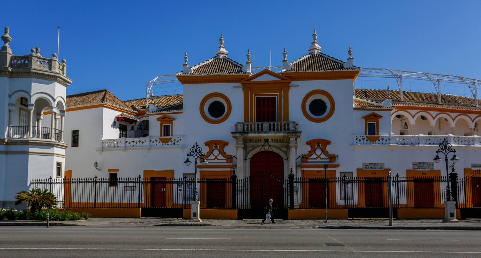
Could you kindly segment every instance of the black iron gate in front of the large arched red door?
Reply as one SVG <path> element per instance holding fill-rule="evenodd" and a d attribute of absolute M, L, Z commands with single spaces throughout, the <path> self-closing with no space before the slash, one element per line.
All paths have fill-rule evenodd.
<path fill-rule="evenodd" d="M 271 174 L 257 173 L 237 183 L 238 219 L 262 219 L 267 202 L 273 199 L 272 214 L 276 219 L 288 219 L 285 198 L 286 183 Z"/>

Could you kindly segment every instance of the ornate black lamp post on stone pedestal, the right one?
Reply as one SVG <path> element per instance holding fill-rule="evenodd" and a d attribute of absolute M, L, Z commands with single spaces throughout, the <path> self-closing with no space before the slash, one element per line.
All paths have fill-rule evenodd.
<path fill-rule="evenodd" d="M 451 143 L 446 141 L 444 138 L 443 142 L 439 144 L 439 149 L 436 151 L 436 157 L 433 159 L 434 162 L 439 163 L 441 162 L 441 158 L 439 154 L 444 155 L 444 161 L 446 162 L 446 180 L 447 180 L 447 189 L 446 189 L 446 200 L 444 201 L 444 219 L 443 222 L 458 222 L 456 219 L 456 202 L 453 199 L 453 194 L 451 191 L 451 185 L 449 182 L 449 169 L 448 169 L 448 154 L 454 153 L 453 157 L 451 158 L 451 162 L 453 163 L 453 171 L 454 171 L 454 164 L 459 160 L 456 156 L 456 150 L 452 148 L 453 146 Z"/>

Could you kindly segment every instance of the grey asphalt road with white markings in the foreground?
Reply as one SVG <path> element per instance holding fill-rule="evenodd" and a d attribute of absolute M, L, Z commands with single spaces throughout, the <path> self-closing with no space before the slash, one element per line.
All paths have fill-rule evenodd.
<path fill-rule="evenodd" d="M 479 231 L 0 227 L 0 257 L 481 257 Z"/>

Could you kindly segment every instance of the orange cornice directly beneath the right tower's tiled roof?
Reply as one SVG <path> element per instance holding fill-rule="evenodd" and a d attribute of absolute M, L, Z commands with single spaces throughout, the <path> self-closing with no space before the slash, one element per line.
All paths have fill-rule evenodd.
<path fill-rule="evenodd" d="M 353 82 L 361 71 L 326 71 L 326 72 L 284 72 L 283 76 L 297 80 L 342 80 L 352 79 Z"/>

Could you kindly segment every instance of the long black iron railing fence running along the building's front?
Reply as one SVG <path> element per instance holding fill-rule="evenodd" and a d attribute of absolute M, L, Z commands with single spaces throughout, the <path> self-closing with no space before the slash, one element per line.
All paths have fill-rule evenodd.
<path fill-rule="evenodd" d="M 481 207 L 481 171 L 468 177 L 294 178 L 269 174 L 225 178 L 72 178 L 32 180 L 30 188 L 49 189 L 64 208 L 190 208 L 197 183 L 201 208 L 442 208 L 450 181 L 458 208 Z"/>

